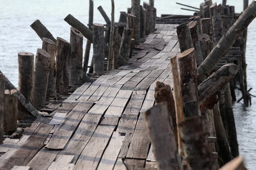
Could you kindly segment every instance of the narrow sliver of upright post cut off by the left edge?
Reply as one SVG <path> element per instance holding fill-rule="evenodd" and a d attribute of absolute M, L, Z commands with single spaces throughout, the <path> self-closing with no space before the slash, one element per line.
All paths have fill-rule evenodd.
<path fill-rule="evenodd" d="M 0 74 L 0 144 L 3 144 L 5 76 Z"/>

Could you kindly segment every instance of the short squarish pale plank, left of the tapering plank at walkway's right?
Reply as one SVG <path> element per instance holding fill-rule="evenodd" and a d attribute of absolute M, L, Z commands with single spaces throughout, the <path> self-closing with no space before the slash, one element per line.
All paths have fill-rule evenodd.
<path fill-rule="evenodd" d="M 122 115 L 116 131 L 119 133 L 134 133 L 137 119 L 137 115 Z"/>

